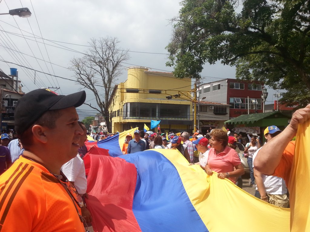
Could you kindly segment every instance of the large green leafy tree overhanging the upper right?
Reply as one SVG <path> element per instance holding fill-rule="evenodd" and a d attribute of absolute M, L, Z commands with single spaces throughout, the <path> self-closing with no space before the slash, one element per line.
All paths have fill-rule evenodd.
<path fill-rule="evenodd" d="M 242 5 L 241 5 L 242 3 Z M 184 0 L 171 20 L 167 66 L 178 78 L 200 78 L 203 65 L 236 66 L 241 79 L 287 93 L 288 105 L 310 99 L 309 0 Z"/>

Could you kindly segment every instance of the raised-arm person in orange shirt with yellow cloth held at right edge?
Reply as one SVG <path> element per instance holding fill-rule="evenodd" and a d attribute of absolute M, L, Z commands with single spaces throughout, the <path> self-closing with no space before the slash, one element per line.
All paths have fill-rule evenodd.
<path fill-rule="evenodd" d="M 290 230 L 310 230 L 309 207 L 309 154 L 306 138 L 309 138 L 310 104 L 296 110 L 289 125 L 257 153 L 254 167 L 265 175 L 274 175 L 285 180 L 290 192 Z M 300 125 L 299 125 L 300 124 Z M 303 125 L 305 124 L 305 125 Z M 291 141 L 299 131 L 299 147 L 303 153 L 295 154 L 295 141 Z M 308 126 L 308 127 L 306 127 Z M 308 133 L 308 134 L 307 134 Z M 296 155 L 296 158 L 294 156 Z"/>

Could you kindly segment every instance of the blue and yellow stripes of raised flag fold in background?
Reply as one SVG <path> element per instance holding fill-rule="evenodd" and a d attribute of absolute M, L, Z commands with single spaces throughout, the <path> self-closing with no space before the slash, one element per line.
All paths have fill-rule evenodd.
<path fill-rule="evenodd" d="M 129 133 L 132 137 L 134 137 L 135 130 L 138 130 L 138 127 L 130 129 L 128 131 L 123 131 L 122 133 L 117 133 L 107 139 L 100 140 L 97 142 L 97 146 L 99 148 L 104 148 L 109 150 L 109 154 L 112 157 L 118 157 L 123 155 L 122 147 L 126 139 L 126 135 Z"/>

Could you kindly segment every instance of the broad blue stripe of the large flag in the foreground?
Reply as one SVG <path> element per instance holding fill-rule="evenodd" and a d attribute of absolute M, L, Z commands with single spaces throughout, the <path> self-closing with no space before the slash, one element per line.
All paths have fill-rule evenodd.
<path fill-rule="evenodd" d="M 138 173 L 132 204 L 142 231 L 208 231 L 177 169 L 165 156 L 152 150 L 120 158 L 145 170 Z M 167 171 L 169 178 L 165 175 Z"/>

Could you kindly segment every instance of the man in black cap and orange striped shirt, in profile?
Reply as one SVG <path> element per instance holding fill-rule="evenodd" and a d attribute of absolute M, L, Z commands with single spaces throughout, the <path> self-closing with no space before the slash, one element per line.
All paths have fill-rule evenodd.
<path fill-rule="evenodd" d="M 60 168 L 78 153 L 75 107 L 85 98 L 37 89 L 18 100 L 15 130 L 25 150 L 0 176 L 0 231 L 84 231 L 83 202 Z"/>

